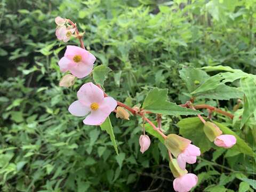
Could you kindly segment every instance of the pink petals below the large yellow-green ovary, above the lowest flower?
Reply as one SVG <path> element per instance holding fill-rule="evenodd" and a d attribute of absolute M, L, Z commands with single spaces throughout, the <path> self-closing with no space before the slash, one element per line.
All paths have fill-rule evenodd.
<path fill-rule="evenodd" d="M 178 164 L 182 170 L 185 170 L 186 163 L 193 164 L 196 163 L 196 156 L 201 154 L 200 149 L 192 144 L 189 144 L 188 147 L 183 150 L 178 158 Z"/>

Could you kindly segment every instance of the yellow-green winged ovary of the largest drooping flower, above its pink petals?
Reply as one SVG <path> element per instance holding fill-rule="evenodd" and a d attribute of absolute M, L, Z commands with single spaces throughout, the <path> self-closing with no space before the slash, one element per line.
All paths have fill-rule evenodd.
<path fill-rule="evenodd" d="M 189 139 L 182 138 L 177 134 L 167 135 L 164 141 L 167 149 L 169 149 L 175 157 L 178 157 L 178 155 L 181 154 L 190 143 L 191 141 Z"/>

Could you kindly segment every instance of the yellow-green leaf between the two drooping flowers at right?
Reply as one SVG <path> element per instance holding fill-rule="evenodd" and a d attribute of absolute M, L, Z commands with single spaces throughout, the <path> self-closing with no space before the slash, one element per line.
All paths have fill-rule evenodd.
<path fill-rule="evenodd" d="M 182 119 L 177 125 L 180 127 L 180 134 L 193 141 L 193 144 L 200 148 L 201 153 L 204 153 L 214 146 L 214 144 L 206 137 L 204 133 L 204 124 L 198 117 Z"/>

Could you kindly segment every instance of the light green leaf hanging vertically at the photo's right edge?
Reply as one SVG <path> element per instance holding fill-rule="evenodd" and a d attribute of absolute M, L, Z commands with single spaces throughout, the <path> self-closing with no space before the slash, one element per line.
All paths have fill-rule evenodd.
<path fill-rule="evenodd" d="M 244 111 L 242 115 L 241 125 L 242 128 L 248 119 L 252 116 L 256 108 L 256 84 L 254 79 L 250 76 L 241 78 L 241 88 L 245 94 Z"/>

